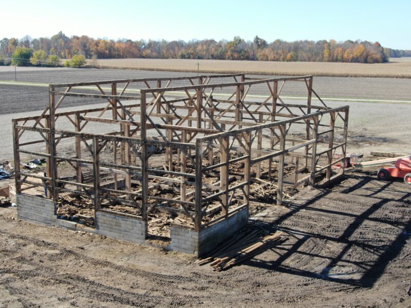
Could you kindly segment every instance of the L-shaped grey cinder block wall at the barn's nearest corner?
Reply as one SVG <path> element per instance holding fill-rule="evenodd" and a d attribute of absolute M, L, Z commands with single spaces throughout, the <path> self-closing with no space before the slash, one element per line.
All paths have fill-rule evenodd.
<path fill-rule="evenodd" d="M 228 219 L 212 224 L 200 232 L 170 226 L 170 248 L 179 252 L 202 256 L 246 226 L 247 222 L 248 210 L 244 208 L 232 214 Z"/>

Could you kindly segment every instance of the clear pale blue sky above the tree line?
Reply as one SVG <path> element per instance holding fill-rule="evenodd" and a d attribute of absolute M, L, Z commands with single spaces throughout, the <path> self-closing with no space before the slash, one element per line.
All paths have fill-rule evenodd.
<path fill-rule="evenodd" d="M 255 35 L 272 42 L 379 41 L 411 49 L 411 1 L 2 1 L 0 39 L 67 36 L 192 40 Z"/>

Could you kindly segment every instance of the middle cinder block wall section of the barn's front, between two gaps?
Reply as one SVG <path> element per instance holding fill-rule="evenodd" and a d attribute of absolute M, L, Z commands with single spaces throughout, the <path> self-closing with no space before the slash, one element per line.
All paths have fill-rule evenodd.
<path fill-rule="evenodd" d="M 98 210 L 96 221 L 98 234 L 139 244 L 145 243 L 147 222 L 137 216 Z"/>

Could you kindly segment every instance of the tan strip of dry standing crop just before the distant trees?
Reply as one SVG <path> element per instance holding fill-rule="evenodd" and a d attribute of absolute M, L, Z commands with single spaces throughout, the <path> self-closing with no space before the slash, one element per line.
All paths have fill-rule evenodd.
<path fill-rule="evenodd" d="M 316 76 L 361 76 L 411 78 L 411 58 L 391 58 L 388 63 L 326 63 L 326 62 L 273 62 L 189 59 L 103 59 L 97 65 L 102 68 L 133 68 L 141 70 L 165 70 L 209 73 L 271 74 Z M 91 64 L 91 61 L 89 61 Z"/>

